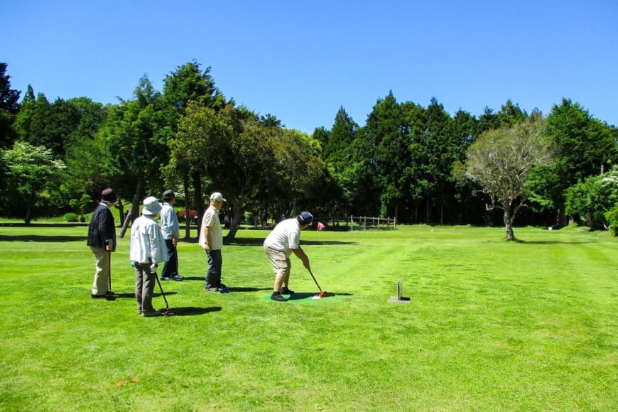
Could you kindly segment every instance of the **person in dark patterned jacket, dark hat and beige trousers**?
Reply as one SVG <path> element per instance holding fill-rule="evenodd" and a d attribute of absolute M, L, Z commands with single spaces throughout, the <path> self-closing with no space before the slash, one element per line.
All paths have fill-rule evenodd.
<path fill-rule="evenodd" d="M 88 225 L 88 241 L 94 254 L 94 281 L 92 282 L 91 297 L 114 300 L 111 290 L 110 260 L 111 252 L 116 251 L 116 225 L 112 215 L 112 207 L 118 202 L 118 195 L 113 189 L 107 188 L 101 193 L 101 202 L 94 209 L 92 219 Z"/>

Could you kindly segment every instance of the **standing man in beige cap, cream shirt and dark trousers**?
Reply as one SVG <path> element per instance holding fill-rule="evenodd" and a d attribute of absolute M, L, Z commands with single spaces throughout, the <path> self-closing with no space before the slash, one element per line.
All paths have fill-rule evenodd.
<path fill-rule="evenodd" d="M 219 220 L 219 210 L 221 210 L 223 202 L 227 202 L 227 200 L 223 198 L 221 193 L 215 192 L 210 195 L 210 206 L 204 212 L 202 227 L 200 228 L 199 243 L 206 251 L 208 260 L 204 288 L 209 292 L 227 292 L 227 286 L 221 283 L 223 232 Z"/>

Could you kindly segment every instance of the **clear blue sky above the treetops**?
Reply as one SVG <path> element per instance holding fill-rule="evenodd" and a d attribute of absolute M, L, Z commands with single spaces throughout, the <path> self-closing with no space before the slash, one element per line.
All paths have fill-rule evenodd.
<path fill-rule="evenodd" d="M 563 97 L 618 126 L 618 1 L 0 0 L 13 89 L 95 102 L 210 66 L 227 98 L 286 127 L 363 126 L 377 99 L 455 114 Z M 22 94 L 23 97 L 23 94 Z"/>

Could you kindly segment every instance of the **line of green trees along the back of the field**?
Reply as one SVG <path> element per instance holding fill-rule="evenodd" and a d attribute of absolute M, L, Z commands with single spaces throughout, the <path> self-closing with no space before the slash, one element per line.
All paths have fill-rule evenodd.
<path fill-rule="evenodd" d="M 128 224 L 143 197 L 172 188 L 187 215 L 195 208 L 199 217 L 208 193 L 224 193 L 232 238 L 246 212 L 278 217 L 303 209 L 401 223 L 505 224 L 512 238 L 515 217 L 603 227 L 618 201 L 607 179 L 598 185 L 609 191 L 597 190 L 609 193 L 604 210 L 591 213 L 580 201 L 592 190 L 587 179 L 617 164 L 618 130 L 566 98 L 546 116 L 510 100 L 498 112 L 451 116 L 435 98 L 423 107 L 389 92 L 364 125 L 340 107 L 330 129 L 306 134 L 237 105 L 216 87 L 210 67 L 195 61 L 166 75 L 162 91 L 145 75 L 131 99 L 105 105 L 87 97 L 49 102 L 31 85 L 19 102 L 7 67 L 0 63 L 0 212 L 26 222 L 84 215 L 112 187 Z"/>

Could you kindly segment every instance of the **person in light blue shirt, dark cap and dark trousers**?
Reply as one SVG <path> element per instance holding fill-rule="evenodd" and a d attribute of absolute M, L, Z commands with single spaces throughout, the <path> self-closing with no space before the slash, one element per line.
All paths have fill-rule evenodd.
<path fill-rule="evenodd" d="M 178 224 L 178 216 L 174 212 L 174 203 L 176 202 L 176 195 L 173 190 L 166 190 L 163 192 L 163 208 L 161 209 L 161 233 L 163 233 L 163 239 L 166 240 L 166 246 L 168 246 L 169 260 L 163 266 L 161 272 L 161 280 L 169 281 L 171 279 L 175 281 L 182 281 L 184 278 L 178 273 L 178 239 L 180 238 L 180 225 Z"/>

